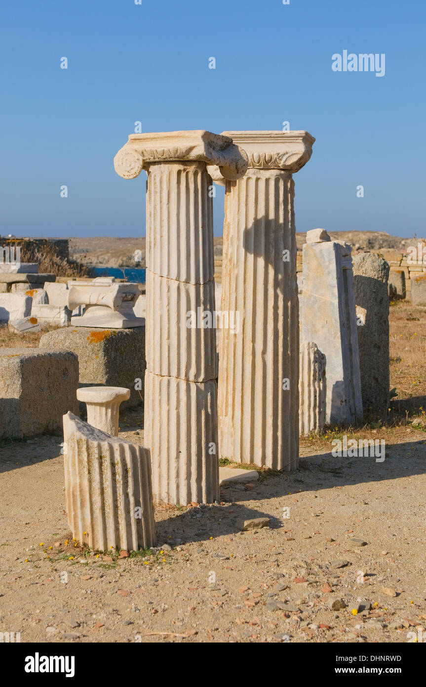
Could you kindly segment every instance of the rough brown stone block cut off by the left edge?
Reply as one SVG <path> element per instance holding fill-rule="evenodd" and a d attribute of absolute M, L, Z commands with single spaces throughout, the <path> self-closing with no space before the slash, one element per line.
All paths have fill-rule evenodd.
<path fill-rule="evenodd" d="M 0 349 L 0 436 L 22 438 L 62 427 L 78 412 L 78 358 L 44 348 Z"/>

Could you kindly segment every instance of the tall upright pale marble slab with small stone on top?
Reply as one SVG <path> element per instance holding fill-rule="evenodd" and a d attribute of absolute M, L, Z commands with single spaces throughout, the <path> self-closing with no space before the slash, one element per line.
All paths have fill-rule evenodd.
<path fill-rule="evenodd" d="M 362 418 L 362 396 L 351 246 L 328 235 L 313 243 L 310 234 L 303 246 L 302 339 L 315 341 L 327 359 L 326 424 L 352 424 Z"/>

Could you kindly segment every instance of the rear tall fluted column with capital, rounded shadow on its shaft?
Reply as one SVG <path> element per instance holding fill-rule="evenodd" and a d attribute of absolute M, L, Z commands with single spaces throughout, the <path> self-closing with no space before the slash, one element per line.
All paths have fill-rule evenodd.
<path fill-rule="evenodd" d="M 298 291 L 294 181 L 311 157 L 306 131 L 224 133 L 244 148 L 249 167 L 226 181 L 219 352 L 222 458 L 296 469 L 298 463 Z M 214 174 L 220 183 L 222 175 Z"/>

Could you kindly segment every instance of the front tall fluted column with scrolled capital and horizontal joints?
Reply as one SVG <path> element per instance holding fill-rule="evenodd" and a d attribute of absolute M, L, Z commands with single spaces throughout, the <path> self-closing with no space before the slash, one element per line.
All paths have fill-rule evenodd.
<path fill-rule="evenodd" d="M 230 137 L 208 131 L 130 135 L 115 157 L 125 179 L 148 173 L 144 442 L 154 494 L 171 504 L 219 497 L 213 194 L 206 164 L 239 179 L 247 157 Z"/>

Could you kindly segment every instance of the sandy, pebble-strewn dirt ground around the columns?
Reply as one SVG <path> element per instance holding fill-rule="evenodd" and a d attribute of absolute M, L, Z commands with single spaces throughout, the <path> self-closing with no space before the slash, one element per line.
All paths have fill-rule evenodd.
<path fill-rule="evenodd" d="M 60 436 L 0 444 L 0 632 L 21 642 L 421 641 L 421 308 L 392 305 L 390 354 L 390 411 L 345 432 L 386 440 L 383 462 L 333 458 L 338 429 L 303 438 L 295 473 L 260 471 L 222 488 L 218 505 L 156 507 L 156 551 L 120 558 L 71 540 Z M 121 436 L 143 442 L 142 427 L 140 411 L 121 416 Z M 270 526 L 239 529 L 255 517 Z"/>

